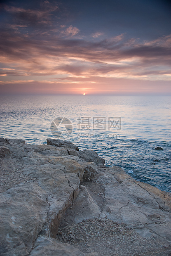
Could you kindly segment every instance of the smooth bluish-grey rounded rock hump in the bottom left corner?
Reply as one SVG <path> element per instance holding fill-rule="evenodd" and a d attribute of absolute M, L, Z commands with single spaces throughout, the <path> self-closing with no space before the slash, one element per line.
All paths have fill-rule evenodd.
<path fill-rule="evenodd" d="M 20 184 L 0 197 L 0 255 L 28 255 L 46 222 L 47 193 L 36 184 Z"/>

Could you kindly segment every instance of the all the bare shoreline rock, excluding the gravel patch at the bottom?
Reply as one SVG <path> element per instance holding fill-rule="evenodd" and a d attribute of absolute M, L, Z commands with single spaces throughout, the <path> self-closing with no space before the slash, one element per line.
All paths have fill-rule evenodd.
<path fill-rule="evenodd" d="M 10 159 L 10 175 L 18 177 L 18 185 L 0 197 L 0 255 L 86 255 L 53 239 L 66 212 L 72 224 L 105 218 L 142 237 L 171 242 L 171 194 L 134 180 L 118 166 L 104 167 L 104 159 L 92 150 L 78 152 L 62 140 L 47 142 L 0 138 L 0 146 L 10 151 L 1 161 Z M 7 171 L 2 180 L 8 179 Z"/>

